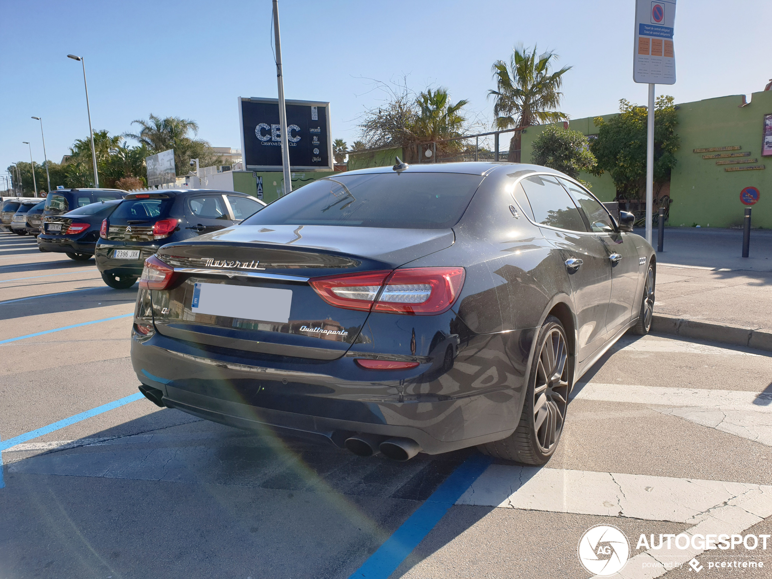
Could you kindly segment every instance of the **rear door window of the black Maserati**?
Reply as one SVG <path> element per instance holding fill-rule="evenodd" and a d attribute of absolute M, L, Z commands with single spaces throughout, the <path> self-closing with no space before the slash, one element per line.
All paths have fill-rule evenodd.
<path fill-rule="evenodd" d="M 551 175 L 533 175 L 520 181 L 533 210 L 533 221 L 558 229 L 586 232 L 584 220 L 566 190 Z"/>

